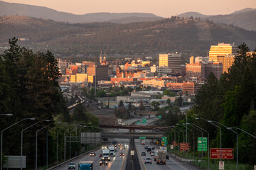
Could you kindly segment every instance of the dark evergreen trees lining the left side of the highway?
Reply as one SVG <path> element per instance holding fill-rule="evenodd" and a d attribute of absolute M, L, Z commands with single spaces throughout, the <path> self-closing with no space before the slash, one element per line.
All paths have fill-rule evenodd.
<path fill-rule="evenodd" d="M 33 127 L 24 131 L 23 155 L 26 155 L 28 169 L 33 169 L 35 162 L 36 130 L 49 125 L 44 120 L 50 120 L 52 125 L 38 131 L 38 166 L 46 162 L 46 130 L 49 130 L 49 146 L 56 146 L 56 130 L 68 130 L 74 125 L 64 123 L 86 123 L 90 126 L 99 125 L 97 118 L 88 113 L 81 103 L 70 115 L 63 98 L 58 79 L 60 72 L 57 61 L 51 52 L 33 52 L 17 45 L 18 40 L 9 40 L 9 50 L 0 55 L 0 113 L 11 113 L 12 116 L 1 116 L 1 130 L 18 123 L 4 131 L 4 155 L 21 155 L 21 130 L 34 123 Z M 40 123 L 38 123 L 41 121 Z M 54 122 L 62 122 L 60 124 Z M 64 132 L 64 131 L 63 131 Z M 62 132 L 62 134 L 63 134 Z M 66 131 L 68 132 L 68 131 Z M 63 135 L 60 135 L 63 136 Z M 63 138 L 61 138 L 63 139 Z M 62 141 L 62 140 L 61 140 Z M 63 145 L 59 145 L 63 150 Z M 73 147 L 80 151 L 80 144 Z M 49 149 L 49 163 L 55 163 L 55 149 Z M 75 155 L 75 153 L 72 153 Z"/>

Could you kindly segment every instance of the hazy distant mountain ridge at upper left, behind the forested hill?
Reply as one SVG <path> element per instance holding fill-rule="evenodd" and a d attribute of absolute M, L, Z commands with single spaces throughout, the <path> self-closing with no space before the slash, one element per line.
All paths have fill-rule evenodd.
<path fill-rule="evenodd" d="M 135 17 L 133 22 L 154 21 L 158 20 L 159 16 L 153 13 L 86 13 L 84 15 L 75 15 L 73 13 L 65 13 L 55 11 L 51 8 L 42 6 L 32 6 L 26 4 L 15 4 L 0 1 L 0 16 L 30 16 L 34 18 L 46 18 L 54 21 L 68 23 L 93 23 L 93 22 L 109 22 L 114 20 L 125 20 L 125 18 Z M 149 20 L 147 20 L 149 18 Z M 128 23 L 129 20 L 125 21 Z"/>

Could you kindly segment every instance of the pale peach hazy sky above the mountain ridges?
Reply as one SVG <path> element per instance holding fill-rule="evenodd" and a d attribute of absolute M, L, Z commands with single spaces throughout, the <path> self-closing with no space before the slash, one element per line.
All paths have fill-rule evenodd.
<path fill-rule="evenodd" d="M 4 0 L 18 4 L 46 6 L 74 14 L 97 12 L 142 12 L 170 17 L 195 11 L 205 15 L 229 14 L 242 8 L 256 8 L 256 0 Z"/>

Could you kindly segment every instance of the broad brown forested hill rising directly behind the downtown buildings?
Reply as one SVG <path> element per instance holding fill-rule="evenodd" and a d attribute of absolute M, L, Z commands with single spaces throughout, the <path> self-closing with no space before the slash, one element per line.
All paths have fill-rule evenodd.
<path fill-rule="evenodd" d="M 0 17 L 0 45 L 7 47 L 9 38 L 28 38 L 21 45 L 34 50 L 50 50 L 60 55 L 134 54 L 183 52 L 207 55 L 210 45 L 245 42 L 256 46 L 256 32 L 201 21 L 196 18 L 166 18 L 141 23 L 69 24 L 26 16 Z"/>

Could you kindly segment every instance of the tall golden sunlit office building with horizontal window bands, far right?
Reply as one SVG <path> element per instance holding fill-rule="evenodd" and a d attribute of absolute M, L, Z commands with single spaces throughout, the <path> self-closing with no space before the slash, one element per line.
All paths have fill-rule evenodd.
<path fill-rule="evenodd" d="M 209 51 L 209 61 L 218 62 L 218 55 L 238 55 L 238 47 L 234 44 L 225 43 L 218 43 L 218 45 L 212 45 Z"/>

